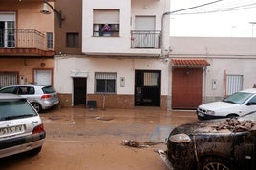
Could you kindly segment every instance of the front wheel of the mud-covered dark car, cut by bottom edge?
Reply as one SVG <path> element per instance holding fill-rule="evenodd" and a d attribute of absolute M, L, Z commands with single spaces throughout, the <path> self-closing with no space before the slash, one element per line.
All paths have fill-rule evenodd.
<path fill-rule="evenodd" d="M 232 170 L 233 167 L 229 161 L 223 158 L 207 158 L 203 161 L 202 170 Z"/>

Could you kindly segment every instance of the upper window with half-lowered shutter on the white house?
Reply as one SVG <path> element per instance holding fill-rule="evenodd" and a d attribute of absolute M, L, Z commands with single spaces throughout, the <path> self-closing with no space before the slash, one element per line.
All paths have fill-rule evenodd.
<path fill-rule="evenodd" d="M 119 9 L 94 9 L 94 36 L 119 36 Z"/>

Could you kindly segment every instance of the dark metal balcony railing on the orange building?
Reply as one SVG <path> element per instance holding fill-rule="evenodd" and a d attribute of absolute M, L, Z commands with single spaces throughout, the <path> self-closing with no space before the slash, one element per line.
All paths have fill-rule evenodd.
<path fill-rule="evenodd" d="M 45 48 L 45 34 L 34 29 L 0 29 L 0 48 Z"/>

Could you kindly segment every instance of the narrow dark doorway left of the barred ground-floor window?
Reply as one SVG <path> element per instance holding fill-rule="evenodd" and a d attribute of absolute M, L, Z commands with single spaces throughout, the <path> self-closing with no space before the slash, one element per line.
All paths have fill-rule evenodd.
<path fill-rule="evenodd" d="M 86 78 L 73 78 L 74 105 L 86 104 Z"/>

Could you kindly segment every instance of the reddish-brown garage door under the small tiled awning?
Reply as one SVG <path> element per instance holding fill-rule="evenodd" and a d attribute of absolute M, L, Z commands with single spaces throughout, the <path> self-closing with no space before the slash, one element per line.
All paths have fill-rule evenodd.
<path fill-rule="evenodd" d="M 195 109 L 202 104 L 202 68 L 174 68 L 172 108 Z"/>

